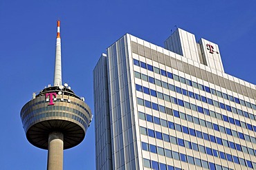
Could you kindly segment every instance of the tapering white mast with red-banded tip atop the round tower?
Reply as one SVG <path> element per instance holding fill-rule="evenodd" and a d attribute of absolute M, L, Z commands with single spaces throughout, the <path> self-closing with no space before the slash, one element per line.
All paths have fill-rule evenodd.
<path fill-rule="evenodd" d="M 60 44 L 60 20 L 57 20 L 56 54 L 53 86 L 62 85 L 62 51 Z"/>

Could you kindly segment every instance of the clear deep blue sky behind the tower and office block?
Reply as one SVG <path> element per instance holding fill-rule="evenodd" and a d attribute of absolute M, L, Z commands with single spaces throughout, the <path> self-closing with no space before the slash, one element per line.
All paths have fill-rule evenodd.
<path fill-rule="evenodd" d="M 255 84 L 255 8 L 253 0 L 0 1 L 0 169 L 46 169 L 47 151 L 26 140 L 19 112 L 53 84 L 57 19 L 63 83 L 93 111 L 93 67 L 127 32 L 163 46 L 177 25 L 217 43 L 226 73 Z M 64 151 L 64 169 L 95 169 L 94 122 L 80 145 Z"/>

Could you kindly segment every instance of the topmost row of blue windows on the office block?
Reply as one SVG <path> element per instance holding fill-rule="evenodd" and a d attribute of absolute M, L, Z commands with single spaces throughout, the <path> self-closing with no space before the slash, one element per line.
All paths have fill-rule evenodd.
<path fill-rule="evenodd" d="M 201 90 L 203 90 L 205 92 L 214 94 L 215 96 L 219 96 L 221 98 L 225 98 L 225 99 L 230 100 L 232 102 L 235 102 L 237 104 L 244 105 L 246 107 L 249 107 L 249 108 L 252 108 L 252 109 L 256 110 L 256 105 L 253 104 L 253 103 L 247 102 L 245 100 L 241 100 L 239 98 L 236 98 L 234 96 L 225 94 L 223 92 L 220 92 L 218 90 L 212 89 L 212 88 L 207 87 L 205 85 L 201 85 L 201 84 L 196 83 L 194 81 L 190 81 L 187 78 L 183 78 L 182 76 L 178 76 L 176 74 L 172 74 L 172 73 L 167 72 L 165 70 L 159 69 L 158 67 L 154 67 L 152 65 L 146 64 L 146 63 L 144 63 L 142 61 L 138 61 L 138 60 L 134 59 L 134 65 L 137 65 L 137 66 L 142 67 L 142 68 L 144 68 L 146 70 L 152 71 L 152 72 L 154 72 L 156 74 L 161 74 L 162 76 L 167 76 L 168 78 L 172 78 L 175 81 L 179 81 L 179 82 L 184 83 L 186 85 L 190 85 L 190 86 L 195 87 L 197 89 L 201 89 Z"/>

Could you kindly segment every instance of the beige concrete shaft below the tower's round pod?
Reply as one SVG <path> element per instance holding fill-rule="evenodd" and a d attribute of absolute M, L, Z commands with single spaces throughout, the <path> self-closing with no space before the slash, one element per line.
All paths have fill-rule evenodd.
<path fill-rule="evenodd" d="M 48 137 L 47 170 L 63 169 L 63 134 L 53 131 Z"/>

